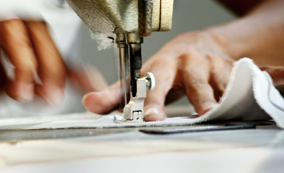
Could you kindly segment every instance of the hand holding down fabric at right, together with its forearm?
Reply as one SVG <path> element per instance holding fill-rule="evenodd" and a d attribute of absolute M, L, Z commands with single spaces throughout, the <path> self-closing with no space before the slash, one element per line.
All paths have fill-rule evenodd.
<path fill-rule="evenodd" d="M 156 87 L 144 102 L 144 120 L 164 119 L 164 104 L 184 94 L 203 115 L 222 96 L 233 61 L 244 56 L 267 70 L 275 85 L 284 84 L 283 7 L 281 0 L 263 1 L 240 19 L 185 33 L 165 44 L 141 69 L 142 76 L 152 72 L 156 78 Z M 91 112 L 105 114 L 118 106 L 119 93 L 116 83 L 85 95 L 83 104 Z"/>

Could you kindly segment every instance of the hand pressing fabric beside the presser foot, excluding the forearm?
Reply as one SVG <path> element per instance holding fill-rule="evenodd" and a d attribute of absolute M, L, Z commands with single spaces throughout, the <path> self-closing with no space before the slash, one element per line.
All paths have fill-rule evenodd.
<path fill-rule="evenodd" d="M 215 107 L 229 80 L 233 59 L 227 54 L 226 42 L 206 32 L 189 32 L 177 36 L 152 56 L 142 67 L 154 74 L 156 87 L 147 93 L 144 120 L 166 117 L 164 104 L 184 94 L 199 116 Z M 103 92 L 93 92 L 83 98 L 91 112 L 105 114 L 115 109 L 120 97 L 119 82 Z"/>

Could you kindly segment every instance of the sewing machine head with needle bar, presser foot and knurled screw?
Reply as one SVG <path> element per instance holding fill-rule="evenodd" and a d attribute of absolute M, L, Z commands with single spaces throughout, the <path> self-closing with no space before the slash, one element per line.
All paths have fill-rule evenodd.
<path fill-rule="evenodd" d="M 66 0 L 94 33 L 114 33 L 120 59 L 123 115 L 143 121 L 146 92 L 155 87 L 152 73 L 141 78 L 141 44 L 153 31 L 169 31 L 173 0 Z M 107 39 L 107 38 L 106 38 Z M 129 94 L 130 93 L 130 94 Z"/>

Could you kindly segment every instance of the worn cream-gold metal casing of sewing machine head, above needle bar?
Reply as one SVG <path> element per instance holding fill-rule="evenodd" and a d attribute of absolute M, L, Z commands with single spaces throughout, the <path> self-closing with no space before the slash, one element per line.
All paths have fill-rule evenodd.
<path fill-rule="evenodd" d="M 66 0 L 66 2 L 95 33 L 138 33 L 139 31 L 138 0 Z M 150 15 L 151 10 L 145 10 L 143 8 L 145 6 L 141 6 L 140 11 L 145 14 L 142 17 L 145 22 L 140 22 L 140 26 L 143 25 L 141 31 L 145 33 L 144 36 L 148 36 L 151 31 L 171 29 L 173 0 L 152 0 L 152 3 L 147 2 L 145 5 L 147 8 L 152 7 L 152 15 Z"/>

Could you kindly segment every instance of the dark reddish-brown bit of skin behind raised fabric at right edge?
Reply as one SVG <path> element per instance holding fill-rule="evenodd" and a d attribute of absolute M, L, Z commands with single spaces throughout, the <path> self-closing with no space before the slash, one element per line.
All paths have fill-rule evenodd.
<path fill-rule="evenodd" d="M 275 86 L 284 85 L 284 66 L 262 66 L 262 71 L 267 71 Z"/>

